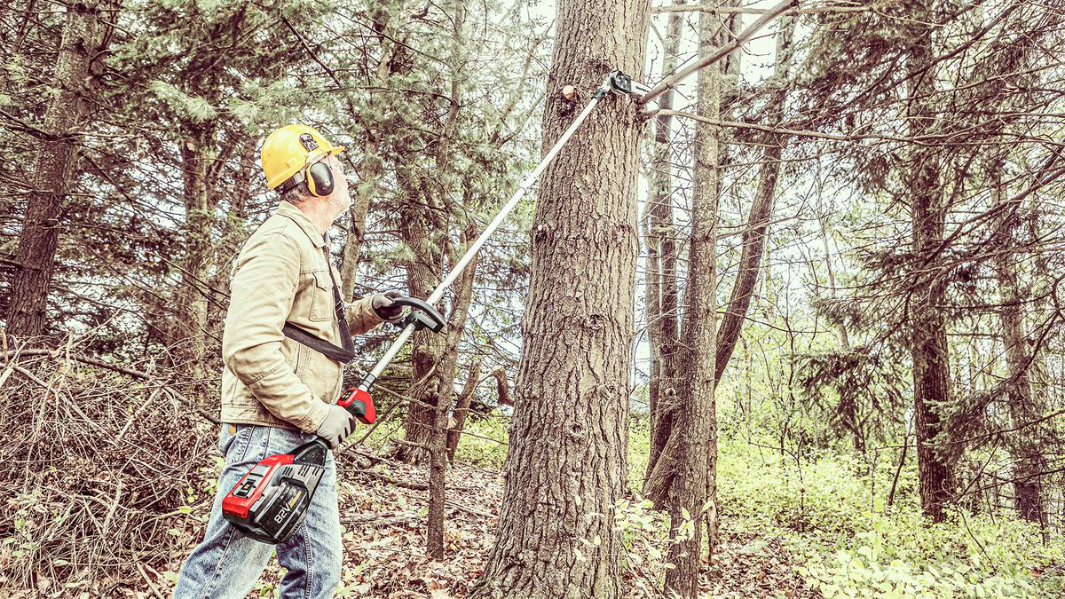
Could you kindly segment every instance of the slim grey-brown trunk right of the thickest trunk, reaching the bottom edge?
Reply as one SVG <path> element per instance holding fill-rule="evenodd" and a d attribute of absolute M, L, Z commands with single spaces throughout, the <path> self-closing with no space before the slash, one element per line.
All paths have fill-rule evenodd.
<path fill-rule="evenodd" d="M 701 53 L 711 52 L 720 25 L 709 13 L 700 13 Z M 718 119 L 721 109 L 723 65 L 699 71 L 699 114 Z M 670 492 L 669 562 L 665 594 L 699 596 L 702 519 L 708 517 L 712 553 L 717 532 L 717 414 L 714 401 L 715 343 L 717 342 L 717 261 L 719 140 L 717 128 L 695 125 L 694 189 L 691 199 L 688 281 L 684 313 L 684 384 L 678 418 L 674 423 L 676 465 Z M 706 507 L 704 512 L 704 505 Z"/>

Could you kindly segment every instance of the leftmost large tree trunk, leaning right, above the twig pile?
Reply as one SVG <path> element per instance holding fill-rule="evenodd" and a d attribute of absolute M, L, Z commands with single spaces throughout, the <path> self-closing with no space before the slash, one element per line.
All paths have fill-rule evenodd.
<path fill-rule="evenodd" d="M 48 288 L 55 268 L 55 249 L 63 227 L 63 205 L 78 179 L 80 134 L 88 99 L 95 93 L 93 61 L 105 49 L 116 20 L 117 0 L 67 4 L 63 38 L 55 59 L 40 146 L 29 178 L 26 218 L 15 252 L 7 333 L 34 337 L 45 330 Z M 110 13 L 103 15 L 102 13 Z"/>

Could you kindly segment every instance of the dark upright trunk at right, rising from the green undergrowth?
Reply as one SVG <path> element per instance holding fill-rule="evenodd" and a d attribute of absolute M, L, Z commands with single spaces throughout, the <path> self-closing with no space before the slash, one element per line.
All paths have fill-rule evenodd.
<path fill-rule="evenodd" d="M 929 134 L 935 114 L 929 102 L 934 93 L 930 49 L 931 30 L 923 29 L 911 50 L 913 88 L 907 123 L 910 135 Z M 928 72 L 922 70 L 928 69 Z M 914 369 L 914 415 L 921 511 L 935 522 L 946 518 L 944 508 L 954 498 L 951 467 L 956 446 L 946 444 L 947 423 L 943 408 L 951 402 L 947 325 L 946 277 L 939 276 L 933 256 L 944 239 L 947 206 L 939 189 L 939 161 L 935 148 L 911 146 L 908 195 L 913 221 L 913 253 L 916 261 L 911 301 L 911 334 Z"/>

